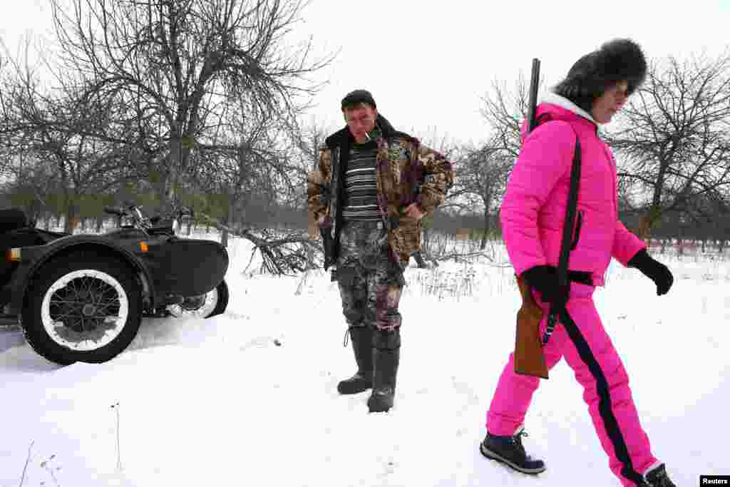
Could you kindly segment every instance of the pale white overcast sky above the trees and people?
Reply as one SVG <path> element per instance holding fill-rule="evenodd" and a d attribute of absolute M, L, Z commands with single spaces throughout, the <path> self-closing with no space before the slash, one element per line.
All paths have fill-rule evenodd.
<path fill-rule="evenodd" d="M 0 0 L 0 36 L 18 39 L 50 28 L 47 0 Z M 312 35 L 315 55 L 340 50 L 319 80 L 312 117 L 343 126 L 339 101 L 366 88 L 396 129 L 479 142 L 480 97 L 493 80 L 541 77 L 557 83 L 581 55 L 615 37 L 631 37 L 650 58 L 717 55 L 730 46 L 730 0 L 691 2 L 312 0 L 295 36 Z"/>

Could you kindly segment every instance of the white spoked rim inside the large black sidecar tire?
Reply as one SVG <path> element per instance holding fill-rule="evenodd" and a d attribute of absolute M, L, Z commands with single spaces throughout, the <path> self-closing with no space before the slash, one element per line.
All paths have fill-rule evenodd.
<path fill-rule="evenodd" d="M 74 329 L 70 326 L 66 326 L 64 321 L 55 320 L 51 316 L 51 298 L 57 291 L 64 291 L 64 288 L 67 288 L 69 283 L 72 283 L 73 280 L 83 279 L 85 277 L 91 277 L 93 280 L 101 281 L 101 283 L 104 283 L 104 285 L 107 285 L 116 291 L 117 296 L 115 301 L 118 302 L 119 312 L 118 315 L 104 315 L 104 321 L 102 323 L 92 325 L 93 329 L 74 331 Z M 67 292 L 76 291 L 78 291 L 77 288 L 69 287 Z M 54 305 L 57 302 L 64 301 L 56 299 L 54 300 Z M 98 304 L 99 303 L 96 303 L 96 305 Z M 91 306 L 94 310 L 93 312 L 96 313 L 97 306 L 88 303 L 83 308 L 85 309 L 87 306 Z M 98 321 L 100 319 L 100 313 L 101 312 L 96 313 L 96 316 L 93 319 Z M 78 318 L 83 314 L 83 312 L 80 312 L 80 314 L 74 315 L 74 318 Z M 106 272 L 101 272 L 95 269 L 81 269 L 69 272 L 68 274 L 59 277 L 58 280 L 56 280 L 55 283 L 48 288 L 43 296 L 43 302 L 41 304 L 41 321 L 46 333 L 50 339 L 58 345 L 61 345 L 64 348 L 69 348 L 70 350 L 97 350 L 105 345 L 109 345 L 109 343 L 112 342 L 112 340 L 115 340 L 115 338 L 118 337 L 124 329 L 128 315 L 129 300 L 122 285 L 118 280 Z M 88 321 L 93 321 L 92 318 L 87 319 Z M 82 316 L 81 323 L 82 326 L 85 324 Z"/>

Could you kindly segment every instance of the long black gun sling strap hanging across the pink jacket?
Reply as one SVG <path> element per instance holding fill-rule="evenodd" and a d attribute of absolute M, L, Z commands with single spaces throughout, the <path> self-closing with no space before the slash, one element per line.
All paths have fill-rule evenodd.
<path fill-rule="evenodd" d="M 575 129 L 573 129 L 575 131 Z M 580 139 L 575 134 L 575 152 L 573 153 L 573 162 L 570 168 L 570 191 L 568 193 L 568 205 L 565 209 L 565 222 L 563 226 L 563 239 L 560 247 L 560 258 L 558 260 L 558 299 L 550 304 L 550 314 L 548 315 L 548 327 L 545 330 L 545 337 L 542 344 L 545 345 L 550 340 L 550 335 L 555 330 L 558 315 L 564 310 L 569 299 L 570 281 L 568 279 L 568 258 L 570 256 L 571 242 L 573 239 L 573 231 L 575 229 L 575 214 L 578 205 L 578 185 L 580 183 L 580 166 L 581 166 L 581 150 Z"/>

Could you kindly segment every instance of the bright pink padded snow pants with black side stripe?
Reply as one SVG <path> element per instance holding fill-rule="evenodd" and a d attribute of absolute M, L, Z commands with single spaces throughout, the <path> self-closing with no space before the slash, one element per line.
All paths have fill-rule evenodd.
<path fill-rule="evenodd" d="M 539 293 L 534 294 L 547 317 L 548 305 L 539 299 Z M 572 283 L 570 295 L 567 315 L 561 316 L 544 348 L 548 370 L 565 357 L 583 386 L 583 400 L 610 469 L 623 486 L 643 485 L 642 473 L 657 460 L 639 423 L 629 376 L 593 304 L 593 288 Z M 540 323 L 541 336 L 546 321 L 543 318 Z M 523 423 L 540 381 L 539 377 L 515 374 L 512 356 L 510 353 L 487 413 L 487 431 L 498 436 L 512 436 Z"/>

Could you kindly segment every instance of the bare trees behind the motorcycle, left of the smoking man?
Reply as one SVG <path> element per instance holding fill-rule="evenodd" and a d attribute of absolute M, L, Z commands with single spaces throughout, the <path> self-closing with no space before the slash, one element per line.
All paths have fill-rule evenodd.
<path fill-rule="evenodd" d="M 297 120 L 331 57 L 288 42 L 299 2 L 68 3 L 51 1 L 53 57 L 0 56 L 6 202 L 66 231 L 127 201 L 226 226 L 301 204 L 316 147 Z"/>

